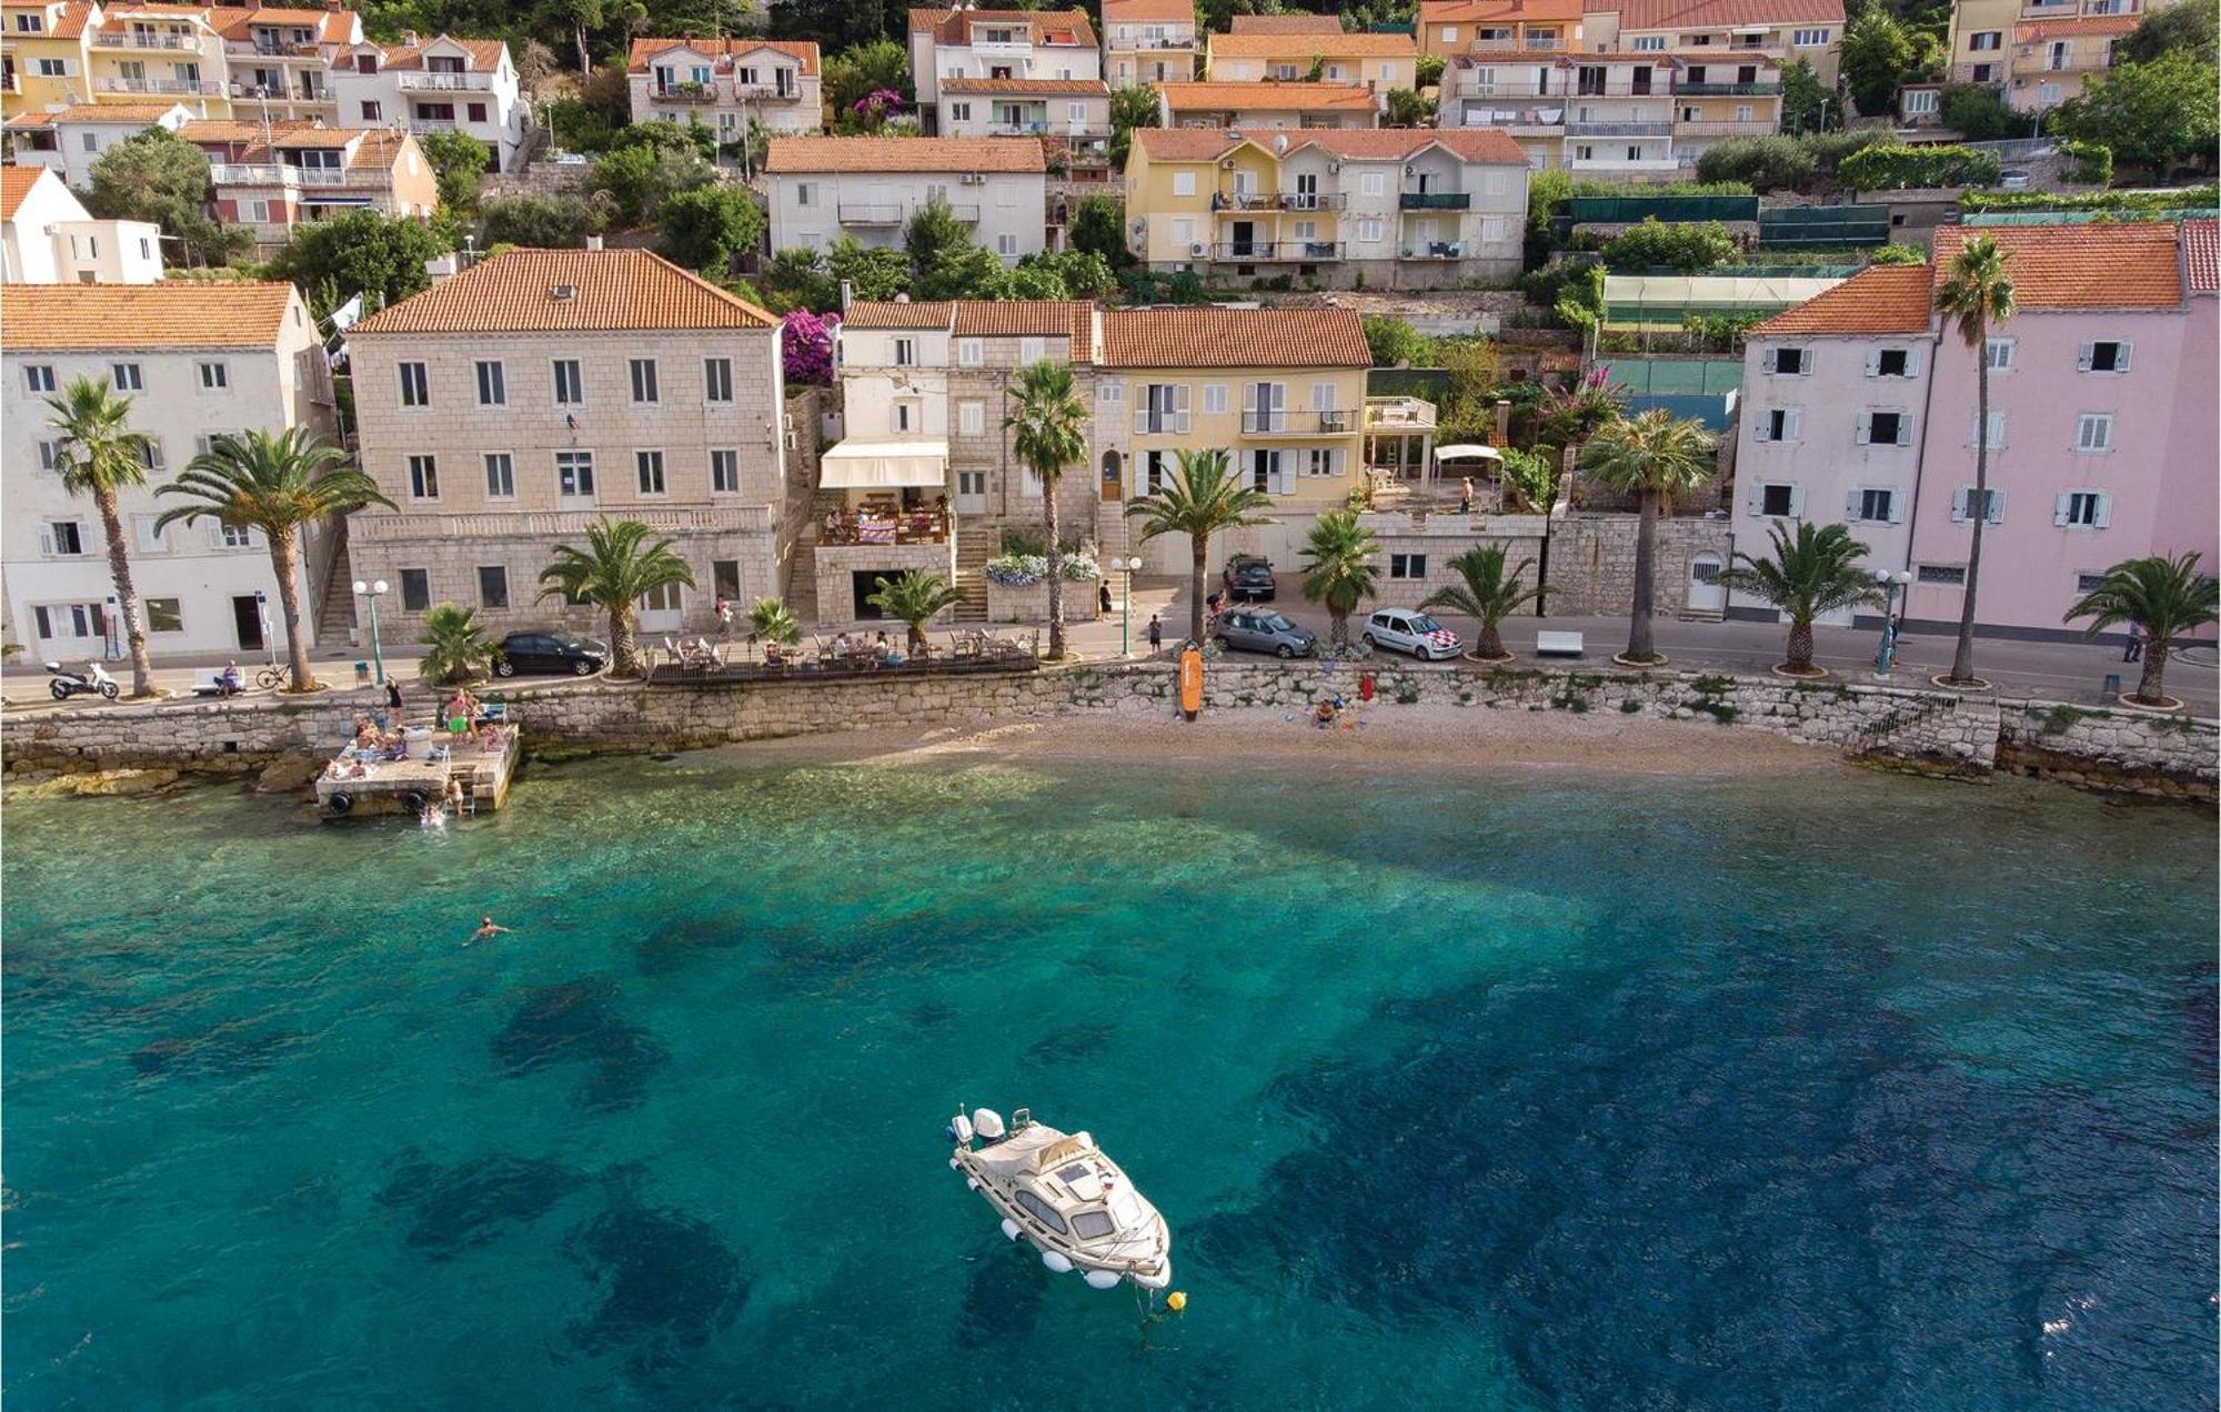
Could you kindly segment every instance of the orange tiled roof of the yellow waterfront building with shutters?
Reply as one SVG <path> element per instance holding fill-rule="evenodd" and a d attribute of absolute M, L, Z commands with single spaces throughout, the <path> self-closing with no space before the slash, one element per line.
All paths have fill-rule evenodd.
<path fill-rule="evenodd" d="M 1113 309 L 1106 369 L 1370 369 L 1355 309 Z"/>

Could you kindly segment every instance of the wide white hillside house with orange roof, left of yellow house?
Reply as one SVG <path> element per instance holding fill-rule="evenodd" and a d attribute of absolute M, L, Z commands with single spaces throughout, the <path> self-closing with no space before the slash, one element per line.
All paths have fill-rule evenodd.
<path fill-rule="evenodd" d="M 764 180 L 775 251 L 840 235 L 897 246 L 933 198 L 1011 264 L 1048 242 L 1048 160 L 1033 138 L 773 138 Z"/>

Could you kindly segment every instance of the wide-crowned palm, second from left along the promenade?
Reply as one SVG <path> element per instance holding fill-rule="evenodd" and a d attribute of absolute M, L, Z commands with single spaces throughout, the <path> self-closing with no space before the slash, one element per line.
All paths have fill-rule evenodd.
<path fill-rule="evenodd" d="M 162 511 L 153 522 L 155 533 L 175 522 L 218 520 L 233 528 L 258 528 L 269 539 L 271 568 L 278 571 L 278 602 L 284 606 L 284 648 L 293 664 L 289 690 L 322 690 L 309 675 L 309 644 L 300 635 L 300 584 L 293 582 L 300 526 L 349 515 L 366 504 L 395 508 L 378 493 L 375 480 L 344 462 L 344 451 L 306 426 L 291 426 L 278 435 L 267 431 L 218 435 L 204 453 L 187 462 L 178 480 L 155 491 L 198 502 Z"/>

